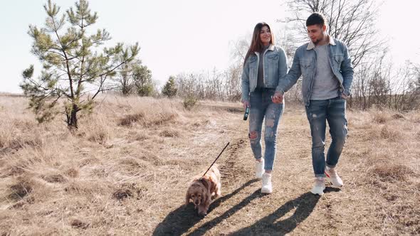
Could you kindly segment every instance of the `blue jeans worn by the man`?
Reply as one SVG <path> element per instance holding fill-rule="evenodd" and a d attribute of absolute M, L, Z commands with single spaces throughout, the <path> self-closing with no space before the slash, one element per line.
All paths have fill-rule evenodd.
<path fill-rule="evenodd" d="M 335 97 L 329 100 L 310 100 L 306 115 L 312 136 L 312 165 L 315 177 L 325 177 L 325 164 L 334 168 L 345 144 L 347 136 L 346 100 Z M 330 126 L 331 145 L 325 163 L 326 121 Z"/>

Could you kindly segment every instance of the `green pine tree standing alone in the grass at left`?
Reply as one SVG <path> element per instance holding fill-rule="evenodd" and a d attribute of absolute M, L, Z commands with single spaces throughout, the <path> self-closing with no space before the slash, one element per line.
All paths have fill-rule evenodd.
<path fill-rule="evenodd" d="M 75 9 L 59 16 L 60 7 L 51 0 L 43 6 L 48 17 L 46 26 L 29 26 L 33 38 L 31 52 L 43 63 L 41 76 L 33 79 L 33 65 L 24 70 L 21 88 L 30 97 L 30 107 L 39 122 L 52 119 L 56 105 L 64 100 L 64 114 L 69 129 L 78 128 L 78 112 L 90 112 L 95 97 L 105 90 L 115 70 L 130 62 L 138 54 L 138 44 L 126 47 L 123 43 L 102 51 L 98 46 L 110 40 L 105 29 L 94 32 L 92 26 L 98 14 L 91 13 L 88 1 L 79 0 Z M 99 47 L 100 48 L 100 47 Z M 90 93 L 92 87 L 94 93 Z"/>

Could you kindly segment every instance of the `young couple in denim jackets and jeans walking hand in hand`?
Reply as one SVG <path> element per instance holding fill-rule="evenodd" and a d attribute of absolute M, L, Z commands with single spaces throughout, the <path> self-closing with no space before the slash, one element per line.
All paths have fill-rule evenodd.
<path fill-rule="evenodd" d="M 272 193 L 271 171 L 275 159 L 277 127 L 283 114 L 283 96 L 303 75 L 302 95 L 312 136 L 313 194 L 322 195 L 325 178 L 333 186 L 343 182 L 335 166 L 347 136 L 346 99 L 350 96 L 353 68 L 347 46 L 326 33 L 325 17 L 311 14 L 306 20 L 309 43 L 300 46 L 288 71 L 282 48 L 273 45 L 267 23 L 258 23 L 246 53 L 242 74 L 242 102 L 250 108 L 249 139 L 256 159 L 256 177 L 262 178 L 262 193 Z M 261 151 L 264 122 L 266 150 Z M 330 126 L 332 142 L 325 161 L 325 129 Z"/>

